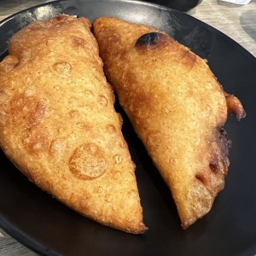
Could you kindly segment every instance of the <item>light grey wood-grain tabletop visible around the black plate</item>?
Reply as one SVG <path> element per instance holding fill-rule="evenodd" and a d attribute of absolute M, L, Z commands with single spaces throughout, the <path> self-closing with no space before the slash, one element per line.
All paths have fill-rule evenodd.
<path fill-rule="evenodd" d="M 1 0 L 0 20 L 22 9 L 50 1 Z M 227 36 L 241 44 L 256 57 L 256 0 L 247 5 L 236 5 L 219 0 L 203 0 L 189 15 L 206 22 L 224 32 Z M 0 228 L 0 255 L 37 255 L 30 249 L 15 241 Z"/>

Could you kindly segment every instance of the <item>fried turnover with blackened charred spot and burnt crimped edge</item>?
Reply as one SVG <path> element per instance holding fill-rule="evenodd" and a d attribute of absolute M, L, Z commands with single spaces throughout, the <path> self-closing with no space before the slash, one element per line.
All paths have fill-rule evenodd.
<path fill-rule="evenodd" d="M 165 32 L 102 17 L 93 23 L 108 81 L 172 191 L 183 229 L 210 211 L 224 189 L 230 140 L 224 93 L 205 60 Z"/>

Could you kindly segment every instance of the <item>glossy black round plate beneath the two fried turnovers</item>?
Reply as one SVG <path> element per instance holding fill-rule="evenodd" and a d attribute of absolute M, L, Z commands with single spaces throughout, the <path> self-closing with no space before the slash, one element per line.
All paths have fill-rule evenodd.
<path fill-rule="evenodd" d="M 181 230 L 172 196 L 126 118 L 123 130 L 137 164 L 137 183 L 148 232 L 142 236 L 129 235 L 83 218 L 28 182 L 0 151 L 3 229 L 32 250 L 47 255 L 255 255 L 256 59 L 253 55 L 223 33 L 182 12 L 150 3 L 92 0 L 47 3 L 3 20 L 1 58 L 7 54 L 9 38 L 20 28 L 32 20 L 45 20 L 62 13 L 87 16 L 90 20 L 116 16 L 168 32 L 207 58 L 224 90 L 241 99 L 247 117 L 241 122 L 230 117 L 225 125 L 233 141 L 225 189 L 218 195 L 212 211 L 189 230 Z"/>

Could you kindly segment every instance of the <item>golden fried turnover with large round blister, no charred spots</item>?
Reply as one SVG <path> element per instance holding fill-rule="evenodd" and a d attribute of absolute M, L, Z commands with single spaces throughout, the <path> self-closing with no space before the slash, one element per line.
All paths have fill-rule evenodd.
<path fill-rule="evenodd" d="M 67 207 L 143 233 L 135 165 L 90 26 L 59 15 L 11 38 L 0 64 L 0 145 Z"/>

